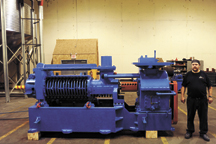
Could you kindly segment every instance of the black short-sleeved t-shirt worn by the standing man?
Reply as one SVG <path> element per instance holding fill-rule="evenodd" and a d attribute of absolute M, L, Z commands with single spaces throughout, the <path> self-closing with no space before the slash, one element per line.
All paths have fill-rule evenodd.
<path fill-rule="evenodd" d="M 189 71 L 183 79 L 182 86 L 187 87 L 187 94 L 192 98 L 203 98 L 206 96 L 206 87 L 211 86 L 211 82 L 204 71 L 193 73 Z"/>

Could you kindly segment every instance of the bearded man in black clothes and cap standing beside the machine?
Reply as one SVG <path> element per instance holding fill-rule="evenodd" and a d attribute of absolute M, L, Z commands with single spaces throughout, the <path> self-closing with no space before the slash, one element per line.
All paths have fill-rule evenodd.
<path fill-rule="evenodd" d="M 200 121 L 200 137 L 206 141 L 210 141 L 207 136 L 208 132 L 208 103 L 213 102 L 211 82 L 204 71 L 200 71 L 200 61 L 192 60 L 192 71 L 189 71 L 183 78 L 181 88 L 181 102 L 185 103 L 185 90 L 187 87 L 187 132 L 185 138 L 192 137 L 194 132 L 194 117 L 196 110 Z M 208 87 L 208 98 L 206 93 Z"/>

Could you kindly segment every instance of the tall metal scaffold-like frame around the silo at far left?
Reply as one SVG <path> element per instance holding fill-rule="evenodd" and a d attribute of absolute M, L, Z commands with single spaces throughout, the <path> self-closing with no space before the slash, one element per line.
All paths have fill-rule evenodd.
<path fill-rule="evenodd" d="M 23 94 L 25 98 L 27 96 L 24 94 L 25 91 L 23 90 L 21 93 L 13 92 L 15 89 L 15 86 L 20 84 L 22 81 L 26 81 L 27 75 L 30 74 L 30 65 L 32 63 L 33 68 L 36 67 L 36 64 L 39 62 L 44 62 L 43 57 L 43 0 L 37 0 L 38 6 L 39 6 L 39 18 L 37 19 L 37 15 L 34 12 L 34 0 L 31 1 L 31 18 L 25 18 L 24 15 L 24 0 L 19 0 L 19 6 L 20 6 L 20 14 L 21 14 L 21 47 L 17 49 L 16 52 L 13 52 L 8 46 L 7 46 L 7 35 L 6 35 L 6 19 L 5 19 L 5 1 L 1 0 L 1 30 L 2 30 L 2 51 L 3 51 L 3 62 L 0 61 L 1 64 L 3 64 L 3 72 L 4 72 L 4 92 L 0 92 L 0 94 L 5 95 L 6 103 L 10 102 L 10 94 Z M 25 40 L 25 33 L 24 33 L 24 27 L 25 27 L 25 20 L 31 20 L 31 36 L 32 40 L 26 42 Z M 39 41 L 37 39 L 37 23 L 39 23 Z M 39 49 L 39 52 L 38 52 Z M 10 51 L 13 55 L 8 60 L 8 53 L 7 51 Z M 27 55 L 27 57 L 26 57 Z M 17 71 L 18 78 L 17 81 L 14 81 L 11 77 L 9 77 L 8 74 L 8 64 L 12 61 L 15 61 L 18 64 L 22 64 L 22 72 L 23 74 L 20 75 L 19 71 Z M 27 67 L 27 70 L 26 70 Z M 2 75 L 1 73 L 0 75 Z M 12 82 L 14 84 L 13 88 L 10 90 L 9 88 L 9 82 Z"/>

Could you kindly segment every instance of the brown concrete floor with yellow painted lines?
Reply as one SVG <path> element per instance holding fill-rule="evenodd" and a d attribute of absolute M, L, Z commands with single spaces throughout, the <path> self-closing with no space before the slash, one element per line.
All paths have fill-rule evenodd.
<path fill-rule="evenodd" d="M 215 96 L 214 96 L 215 95 Z M 173 125 L 174 132 L 165 131 L 158 132 L 157 139 L 146 139 L 145 132 L 121 131 L 116 134 L 101 135 L 99 133 L 72 133 L 64 135 L 62 133 L 41 133 L 39 141 L 27 140 L 27 132 L 29 129 L 28 118 L 3 120 L 7 118 L 23 118 L 28 117 L 28 112 L 0 114 L 0 144 L 203 144 L 216 143 L 216 87 L 213 87 L 214 102 L 209 105 L 208 124 L 210 142 L 205 142 L 199 137 L 199 121 L 198 116 L 195 117 L 195 133 L 189 140 L 184 138 L 186 130 L 186 105 L 180 102 L 179 94 L 179 114 L 178 124 Z M 135 93 L 127 93 L 125 101 L 131 105 L 135 102 Z M 25 111 L 33 105 L 36 99 L 23 97 L 11 97 L 10 103 L 5 103 L 5 97 L 0 97 L 0 113 L 12 111 Z"/>

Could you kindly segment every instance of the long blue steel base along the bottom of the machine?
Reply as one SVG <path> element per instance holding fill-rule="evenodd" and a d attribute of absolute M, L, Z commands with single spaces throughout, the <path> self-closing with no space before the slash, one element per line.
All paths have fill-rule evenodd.
<path fill-rule="evenodd" d="M 121 130 L 172 130 L 169 112 L 128 112 L 124 106 L 115 107 L 29 107 L 29 133 L 99 132 Z"/>

